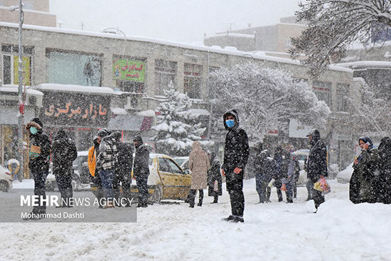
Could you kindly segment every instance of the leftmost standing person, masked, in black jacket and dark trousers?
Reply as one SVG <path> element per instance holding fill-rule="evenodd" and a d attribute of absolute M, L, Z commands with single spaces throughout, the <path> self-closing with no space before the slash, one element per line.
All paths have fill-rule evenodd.
<path fill-rule="evenodd" d="M 30 134 L 30 153 L 28 155 L 28 168 L 34 178 L 34 195 L 39 197 L 38 206 L 33 207 L 33 219 L 41 219 L 46 213 L 46 202 L 41 201 L 46 198 L 45 181 L 49 174 L 50 159 L 50 139 L 43 132 L 41 119 L 33 118 L 27 122 L 26 129 Z"/>

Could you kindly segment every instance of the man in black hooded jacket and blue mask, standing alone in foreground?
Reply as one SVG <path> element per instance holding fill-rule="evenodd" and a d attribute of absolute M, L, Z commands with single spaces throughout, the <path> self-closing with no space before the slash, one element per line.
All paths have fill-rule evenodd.
<path fill-rule="evenodd" d="M 247 133 L 239 127 L 236 110 L 228 110 L 223 115 L 223 123 L 227 129 L 225 136 L 224 163 L 222 174 L 225 175 L 227 191 L 230 193 L 231 215 L 224 220 L 245 222 L 245 195 L 243 194 L 243 175 L 249 156 Z"/>

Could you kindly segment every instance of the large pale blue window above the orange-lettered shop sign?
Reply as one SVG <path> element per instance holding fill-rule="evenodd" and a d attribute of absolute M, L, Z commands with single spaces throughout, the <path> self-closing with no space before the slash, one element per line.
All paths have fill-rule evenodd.
<path fill-rule="evenodd" d="M 46 50 L 50 60 L 49 82 L 65 85 L 101 86 L 100 55 Z"/>

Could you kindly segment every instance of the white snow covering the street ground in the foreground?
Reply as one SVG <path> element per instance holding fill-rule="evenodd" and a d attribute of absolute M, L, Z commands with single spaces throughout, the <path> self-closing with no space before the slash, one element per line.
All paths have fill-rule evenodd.
<path fill-rule="evenodd" d="M 294 204 L 275 188 L 272 203 L 255 204 L 255 180 L 245 181 L 245 223 L 221 220 L 226 191 L 217 205 L 139 209 L 137 223 L 0 223 L 0 260 L 390 260 L 391 206 L 353 205 L 348 184 L 330 185 L 314 214 L 305 187 Z"/>

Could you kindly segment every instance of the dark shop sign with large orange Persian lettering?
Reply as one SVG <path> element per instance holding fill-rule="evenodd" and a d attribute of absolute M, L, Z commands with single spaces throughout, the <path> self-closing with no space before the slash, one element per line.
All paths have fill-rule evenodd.
<path fill-rule="evenodd" d="M 41 119 L 60 126 L 107 127 L 110 97 L 85 93 L 44 92 Z"/>

